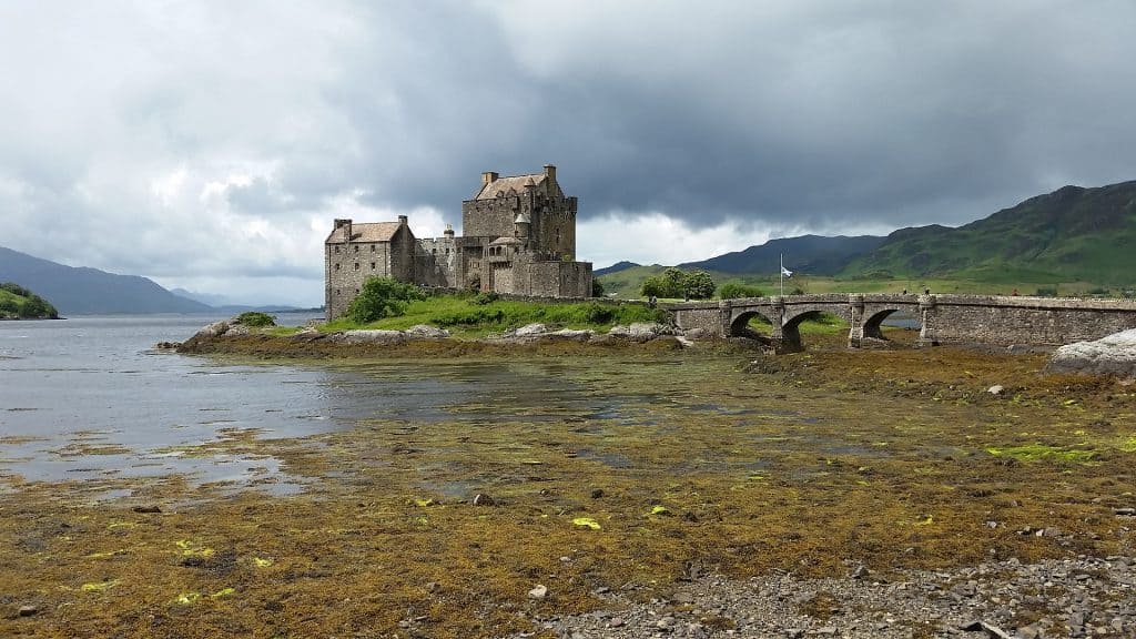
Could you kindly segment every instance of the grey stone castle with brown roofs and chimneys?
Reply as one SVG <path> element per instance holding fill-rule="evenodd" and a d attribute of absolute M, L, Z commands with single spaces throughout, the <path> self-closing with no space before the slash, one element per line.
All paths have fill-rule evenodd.
<path fill-rule="evenodd" d="M 336 219 L 324 242 L 327 320 L 344 312 L 367 277 L 424 287 L 531 297 L 592 294 L 592 264 L 576 255 L 576 198 L 563 194 L 557 167 L 501 177 L 483 173 L 461 202 L 462 235 L 417 239 L 407 216 L 356 224 Z"/>

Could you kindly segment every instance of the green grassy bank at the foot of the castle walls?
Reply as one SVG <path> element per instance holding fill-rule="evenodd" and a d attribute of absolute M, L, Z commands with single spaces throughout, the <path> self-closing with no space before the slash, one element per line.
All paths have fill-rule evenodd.
<path fill-rule="evenodd" d="M 444 296 L 411 301 L 406 314 L 384 317 L 369 324 L 356 324 L 340 318 L 325 324 L 326 332 L 351 329 L 383 329 L 404 331 L 417 324 L 428 324 L 449 330 L 454 335 L 478 338 L 541 323 L 553 329 L 592 329 L 607 331 L 616 324 L 635 322 L 665 322 L 667 315 L 643 305 L 571 302 L 548 304 L 517 300 L 496 300 L 478 304 L 474 296 Z"/>

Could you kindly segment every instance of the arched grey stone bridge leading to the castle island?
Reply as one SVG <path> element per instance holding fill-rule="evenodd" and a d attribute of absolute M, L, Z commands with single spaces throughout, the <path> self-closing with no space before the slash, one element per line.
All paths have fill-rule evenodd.
<path fill-rule="evenodd" d="M 1095 340 L 1136 329 L 1136 301 L 962 294 L 828 293 L 666 305 L 683 330 L 728 337 L 745 333 L 754 316 L 772 325 L 779 350 L 800 350 L 800 325 L 820 313 L 849 323 L 849 346 L 883 339 L 889 315 L 919 325 L 919 343 L 1052 345 Z"/>

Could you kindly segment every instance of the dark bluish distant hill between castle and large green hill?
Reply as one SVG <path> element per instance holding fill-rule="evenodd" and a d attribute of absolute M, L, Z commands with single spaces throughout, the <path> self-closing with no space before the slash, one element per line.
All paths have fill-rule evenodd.
<path fill-rule="evenodd" d="M 884 238 L 877 235 L 779 238 L 742 251 L 727 252 L 702 262 L 679 264 L 678 267 L 684 271 L 702 269 L 730 274 L 776 274 L 780 268 L 780 256 L 784 255 L 785 267 L 790 271 L 810 275 L 835 275 L 847 266 L 850 260 L 883 242 Z"/>

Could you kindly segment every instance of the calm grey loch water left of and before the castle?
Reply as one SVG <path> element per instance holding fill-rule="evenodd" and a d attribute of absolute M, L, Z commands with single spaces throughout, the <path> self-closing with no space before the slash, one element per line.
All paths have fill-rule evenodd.
<path fill-rule="evenodd" d="M 510 410 L 531 421 L 580 412 L 618 417 L 618 406 L 562 382 L 554 363 L 237 365 L 153 349 L 215 320 L 0 322 L 0 488 L 20 478 L 184 474 L 241 483 L 279 475 L 274 458 L 182 454 L 250 429 L 286 438 L 352 429 L 365 418 L 491 424 Z M 534 401 L 516 406 L 521 392 Z M 273 490 L 300 488 L 285 478 Z"/>

